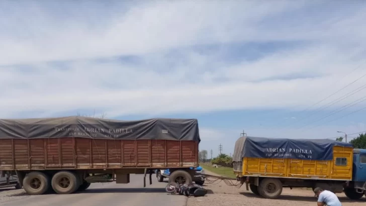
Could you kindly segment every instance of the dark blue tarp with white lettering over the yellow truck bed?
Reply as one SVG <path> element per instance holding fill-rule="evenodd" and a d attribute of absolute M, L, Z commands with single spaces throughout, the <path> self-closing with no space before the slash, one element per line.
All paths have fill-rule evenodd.
<path fill-rule="evenodd" d="M 352 144 L 329 139 L 246 137 L 242 157 L 332 160 L 336 145 L 352 147 Z"/>

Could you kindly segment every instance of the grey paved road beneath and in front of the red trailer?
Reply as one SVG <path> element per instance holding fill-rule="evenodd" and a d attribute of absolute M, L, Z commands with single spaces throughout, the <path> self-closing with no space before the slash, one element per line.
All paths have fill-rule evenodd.
<path fill-rule="evenodd" d="M 126 205 L 126 206 L 185 206 L 187 197 L 171 195 L 165 192 L 166 182 L 157 182 L 152 179 L 149 185 L 143 188 L 143 175 L 131 174 L 130 183 L 93 183 L 88 189 L 75 194 L 45 194 L 45 195 L 19 195 L 0 200 L 3 206 L 93 206 L 93 205 Z M 3 192 L 9 192 L 3 191 Z M 0 189 L 2 193 L 2 189 Z"/>

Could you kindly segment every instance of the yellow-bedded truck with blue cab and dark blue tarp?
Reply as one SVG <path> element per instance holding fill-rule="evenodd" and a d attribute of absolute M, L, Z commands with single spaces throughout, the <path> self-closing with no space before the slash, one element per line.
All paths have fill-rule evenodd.
<path fill-rule="evenodd" d="M 329 139 L 240 137 L 233 167 L 246 189 L 277 198 L 283 187 L 321 187 L 350 199 L 366 194 L 366 149 Z"/>

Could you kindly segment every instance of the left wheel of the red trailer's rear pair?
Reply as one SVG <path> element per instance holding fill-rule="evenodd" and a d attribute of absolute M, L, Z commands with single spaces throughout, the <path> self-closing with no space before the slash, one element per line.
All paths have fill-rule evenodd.
<path fill-rule="evenodd" d="M 24 190 L 31 195 L 44 194 L 50 186 L 50 178 L 43 172 L 30 172 L 23 179 Z"/>

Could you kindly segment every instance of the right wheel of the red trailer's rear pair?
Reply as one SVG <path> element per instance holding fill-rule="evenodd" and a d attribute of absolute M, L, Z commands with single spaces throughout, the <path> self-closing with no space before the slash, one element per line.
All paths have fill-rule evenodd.
<path fill-rule="evenodd" d="M 80 186 L 79 178 L 72 172 L 59 171 L 52 177 L 52 188 L 58 194 L 70 194 Z"/>

